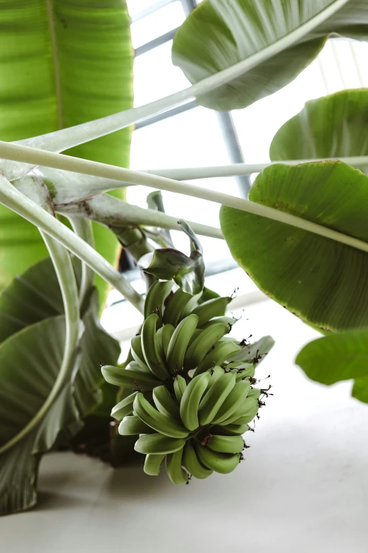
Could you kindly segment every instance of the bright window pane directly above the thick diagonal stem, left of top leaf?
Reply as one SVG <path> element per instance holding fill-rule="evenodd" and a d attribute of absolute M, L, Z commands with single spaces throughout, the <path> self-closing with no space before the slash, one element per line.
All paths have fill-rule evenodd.
<path fill-rule="evenodd" d="M 161 44 L 135 59 L 135 105 L 145 105 L 187 88 L 190 83 L 183 71 L 171 61 L 172 41 Z"/>

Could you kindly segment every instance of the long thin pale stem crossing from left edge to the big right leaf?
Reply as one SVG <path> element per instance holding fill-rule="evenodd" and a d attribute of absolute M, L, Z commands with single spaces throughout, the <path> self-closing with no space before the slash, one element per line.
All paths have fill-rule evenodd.
<path fill-rule="evenodd" d="M 1 141 L 0 156 L 5 157 L 6 159 L 16 159 L 17 161 L 25 162 L 33 160 L 36 165 L 47 165 L 48 167 L 56 167 L 57 169 L 66 169 L 84 174 L 93 174 L 97 177 L 106 177 L 107 179 L 121 179 L 122 181 L 128 180 L 128 182 L 133 182 L 134 184 L 142 184 L 155 189 L 175 192 L 176 194 L 185 194 L 185 196 L 201 198 L 214 203 L 220 203 L 223 206 L 246 211 L 247 213 L 253 213 L 254 215 L 259 215 L 260 217 L 266 217 L 274 221 L 283 222 L 286 225 L 307 230 L 308 232 L 319 234 L 319 236 L 335 240 L 336 242 L 341 242 L 341 244 L 346 244 L 352 248 L 368 252 L 367 242 L 350 237 L 342 232 L 332 230 L 328 227 L 323 227 L 322 225 L 317 225 L 315 222 L 296 217 L 295 215 L 290 215 L 290 213 L 284 213 L 283 211 L 269 208 L 268 206 L 262 206 L 259 203 L 201 188 L 200 186 L 195 186 L 193 184 L 186 184 L 173 179 L 166 179 L 164 177 L 157 177 L 156 175 L 123 169 L 122 167 L 116 167 L 115 165 L 106 165 L 96 161 L 82 160 L 78 157 L 71 157 L 70 155 L 44 152 L 44 150 L 36 150 L 35 148 L 28 148 L 27 146 L 9 144 Z M 8 186 L 11 186 L 9 182 Z M 0 201 L 4 203 L 4 201 L 1 200 L 1 194 Z M 37 222 L 35 222 L 35 224 L 39 225 Z M 55 237 L 57 238 L 57 232 L 55 233 Z M 61 242 L 60 236 L 59 241 Z M 70 246 L 67 247 L 70 249 Z M 73 250 L 70 249 L 70 251 Z M 78 254 L 78 257 L 80 257 L 80 254 Z"/>

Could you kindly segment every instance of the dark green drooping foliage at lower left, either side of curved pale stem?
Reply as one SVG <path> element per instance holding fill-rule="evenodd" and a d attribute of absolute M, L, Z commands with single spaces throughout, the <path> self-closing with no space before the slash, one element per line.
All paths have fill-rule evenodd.
<path fill-rule="evenodd" d="M 0 513 L 35 504 L 40 454 L 53 446 L 59 432 L 75 434 L 81 418 L 101 400 L 99 361 L 116 363 L 120 347 L 100 326 L 98 308 L 97 291 L 91 290 L 82 309 L 85 331 L 74 378 L 39 427 L 0 455 Z M 62 312 L 50 259 L 27 270 L 0 296 L 0 446 L 25 427 L 54 385 L 65 340 Z"/>

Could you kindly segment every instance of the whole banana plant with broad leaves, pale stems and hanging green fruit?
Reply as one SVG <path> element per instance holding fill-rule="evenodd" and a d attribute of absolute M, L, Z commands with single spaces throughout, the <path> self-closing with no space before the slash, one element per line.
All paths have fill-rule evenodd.
<path fill-rule="evenodd" d="M 150 455 L 161 456 L 161 460 L 167 456 L 168 475 L 174 483 L 188 480 L 187 471 L 195 476 L 197 472 L 197 477 L 213 470 L 230 472 L 240 460 L 239 438 L 245 432 L 245 418 L 250 417 L 250 422 L 259 408 L 259 396 L 255 403 L 250 397 L 252 416 L 243 404 L 239 411 L 231 412 L 238 398 L 249 398 L 247 384 L 254 383 L 253 365 L 260 360 L 257 345 L 235 343 L 224 335 L 229 321 L 213 321 L 214 316 L 209 316 L 211 309 L 220 305 L 217 316 L 228 319 L 223 314 L 223 298 L 204 301 L 203 292 L 201 302 L 197 294 L 192 296 L 197 292 L 192 285 L 197 285 L 196 279 L 202 275 L 202 252 L 197 245 L 192 248 L 194 255 L 180 256 L 181 273 L 165 273 L 165 279 L 173 276 L 180 285 L 186 283 L 190 288 L 185 292 L 179 287 L 179 293 L 170 298 L 164 294 L 164 309 L 149 311 L 147 300 L 149 292 L 156 289 L 156 281 L 144 301 L 111 263 L 116 263 L 121 244 L 137 260 L 151 255 L 152 244 L 161 247 L 162 243 L 157 228 L 177 229 L 178 218 L 159 213 L 153 206 L 147 210 L 129 206 L 122 199 L 121 189 L 142 184 L 219 203 L 223 206 L 223 235 L 221 230 L 196 221 L 188 222 L 192 231 L 218 239 L 224 236 L 235 258 L 260 287 L 308 323 L 324 332 L 347 331 L 343 336 L 350 340 L 351 333 L 357 344 L 363 335 L 355 335 L 356 328 L 367 326 L 362 282 L 368 252 L 363 220 L 368 177 L 343 162 L 298 167 L 290 167 L 295 165 L 293 162 L 278 164 L 258 177 L 250 200 L 244 200 L 180 182 L 162 172 L 140 173 L 125 168 L 130 126 L 192 98 L 214 109 L 233 109 L 278 90 L 314 59 L 327 37 L 366 40 L 366 3 L 289 0 L 281 10 L 280 3 L 272 0 L 257 4 L 204 0 L 178 31 L 173 44 L 173 59 L 193 84 L 134 108 L 133 49 L 125 2 L 82 0 L 77 5 L 64 0 L 32 0 L 25 5 L 17 0 L 6 11 L 6 22 L 1 40 L 6 44 L 4 52 L 11 55 L 0 64 L 0 73 L 11 100 L 7 98 L 2 106 L 0 102 L 4 112 L 0 220 L 1 238 L 5 237 L 0 244 L 4 260 L 0 296 L 1 512 L 21 511 L 35 504 L 42 453 L 57 439 L 74 435 L 91 410 L 97 412 L 104 387 L 99 361 L 104 363 L 106 381 L 123 386 L 113 410 L 116 420 L 123 415 L 121 434 L 154 436 L 139 438 L 135 444 L 137 451 L 147 454 L 146 472 L 157 473 L 161 464 Z M 339 132 L 338 117 L 345 117 L 345 113 L 342 108 L 329 112 L 330 119 L 336 116 L 334 133 Z M 350 123 L 351 118 L 345 122 Z M 341 143 L 344 140 L 341 138 Z M 349 143 L 353 145 L 346 139 Z M 278 151 L 276 142 L 273 148 Z M 347 146 L 318 155 L 314 148 L 312 157 L 365 153 L 364 147 L 350 150 Z M 285 160 L 283 155 L 276 153 L 275 159 Z M 289 160 L 293 155 L 290 152 Z M 360 165 L 368 165 L 367 158 L 360 160 Z M 107 194 L 110 191 L 117 191 L 120 198 Z M 65 224 L 65 217 L 70 226 Z M 91 222 L 99 223 L 94 231 Z M 245 251 L 248 227 L 257 247 Z M 103 229 L 104 238 L 99 239 L 98 231 L 95 249 L 97 228 Z M 16 244 L 15 235 L 19 237 Z M 47 261 L 35 265 L 47 251 Z M 275 261 L 272 270 L 270 254 Z M 164 256 L 164 261 L 167 258 Z M 178 256 L 174 258 L 177 263 Z M 161 261 L 154 261 L 153 271 Z M 305 273 L 298 273 L 307 266 L 309 279 Z M 354 267 L 360 270 L 358 276 Z M 154 275 L 153 271 L 151 267 Z M 104 283 L 100 299 L 109 285 L 115 287 L 145 318 L 140 340 L 132 340 L 133 359 L 123 367 L 117 364 L 118 345 L 99 327 L 96 275 Z M 157 283 L 161 285 L 161 281 Z M 311 297 L 314 302 L 309 304 Z M 183 328 L 188 331 L 188 319 L 190 328 L 193 321 L 201 327 L 209 325 L 209 331 L 197 328 L 203 332 L 205 343 L 197 340 L 195 328 L 191 334 L 184 333 Z M 164 333 L 161 328 L 165 326 L 168 330 Z M 161 334 L 161 343 L 154 347 L 157 334 Z M 329 355 L 331 349 L 324 340 L 331 336 L 321 339 L 322 347 L 309 350 L 304 357 L 300 354 L 300 364 L 307 367 L 313 355 Z M 211 344 L 211 340 L 209 348 L 214 349 L 204 352 L 204 345 Z M 267 339 L 264 344 L 272 345 Z M 355 352 L 354 342 L 351 344 L 350 351 Z M 178 374 L 178 368 L 182 374 Z M 361 364 L 346 370 L 340 367 L 338 371 L 337 378 L 331 371 L 326 373 L 326 383 L 355 378 L 355 395 L 367 400 L 367 377 Z M 316 377 L 315 371 L 309 373 Z M 168 381 L 170 386 L 165 386 Z M 205 391 L 204 383 L 207 386 L 210 381 L 210 389 Z M 221 385 L 216 384 L 220 381 Z M 245 383 L 238 386 L 240 381 Z M 141 391 L 135 390 L 137 386 Z M 158 405 L 162 408 L 166 401 L 164 409 L 168 410 L 173 404 L 167 403 L 162 388 L 154 393 L 154 388 L 160 386 L 176 402 L 180 421 L 162 418 L 165 413 Z M 125 396 L 125 388 L 132 393 Z M 201 391 L 202 396 L 206 392 L 203 398 Z M 228 397 L 232 398 L 231 405 L 226 403 Z M 157 409 L 149 403 L 151 399 Z M 137 415 L 129 414 L 133 410 Z M 209 425 L 216 427 L 214 432 L 200 436 L 200 427 L 208 430 Z M 228 434 L 223 434 L 222 427 L 227 427 Z M 198 442 L 200 437 L 202 441 Z M 180 446 L 177 441 L 176 446 L 172 441 L 168 446 L 166 438 L 185 439 L 185 446 L 181 441 Z"/>

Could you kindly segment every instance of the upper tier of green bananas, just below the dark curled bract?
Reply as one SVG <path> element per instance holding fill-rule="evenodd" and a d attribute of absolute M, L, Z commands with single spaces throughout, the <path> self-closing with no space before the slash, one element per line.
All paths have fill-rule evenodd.
<path fill-rule="evenodd" d="M 222 316 L 230 297 L 198 303 L 180 288 L 172 292 L 171 282 L 157 282 L 145 300 L 145 322 L 140 335 L 131 341 L 126 367 L 102 367 L 109 383 L 130 389 L 152 391 L 171 383 L 176 374 L 197 376 L 221 365 L 241 347 L 226 338 L 236 319 Z"/>

